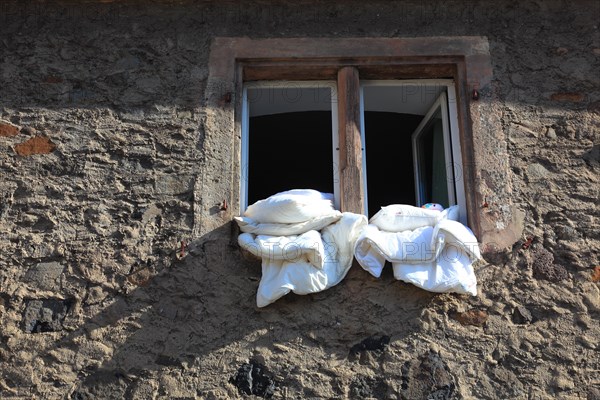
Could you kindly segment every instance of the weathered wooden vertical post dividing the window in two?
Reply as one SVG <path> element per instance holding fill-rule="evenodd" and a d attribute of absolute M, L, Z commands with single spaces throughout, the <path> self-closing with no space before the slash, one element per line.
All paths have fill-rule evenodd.
<path fill-rule="evenodd" d="M 338 71 L 340 209 L 364 214 L 360 121 L 358 69 L 343 67 Z"/>

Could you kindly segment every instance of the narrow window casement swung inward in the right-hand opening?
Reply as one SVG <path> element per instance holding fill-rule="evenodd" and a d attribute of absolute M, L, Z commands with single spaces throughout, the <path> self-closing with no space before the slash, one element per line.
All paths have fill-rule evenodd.
<path fill-rule="evenodd" d="M 412 134 L 417 205 L 456 204 L 446 93 L 433 104 Z"/>

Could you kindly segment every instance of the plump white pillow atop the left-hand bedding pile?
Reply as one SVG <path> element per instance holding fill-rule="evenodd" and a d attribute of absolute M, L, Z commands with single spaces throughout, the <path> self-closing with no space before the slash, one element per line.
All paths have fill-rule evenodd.
<path fill-rule="evenodd" d="M 243 216 L 258 223 L 293 224 L 333 213 L 333 194 L 293 189 L 259 200 Z"/>

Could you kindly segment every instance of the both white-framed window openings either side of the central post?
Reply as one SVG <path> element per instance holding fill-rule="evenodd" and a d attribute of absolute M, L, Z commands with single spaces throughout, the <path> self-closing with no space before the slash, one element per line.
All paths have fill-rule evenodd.
<path fill-rule="evenodd" d="M 340 208 L 336 93 L 332 81 L 244 84 L 242 209 L 295 188 L 334 193 Z M 454 81 L 364 80 L 355 101 L 364 192 L 354 195 L 362 197 L 362 212 L 373 216 L 395 203 L 459 204 L 466 222 Z"/>

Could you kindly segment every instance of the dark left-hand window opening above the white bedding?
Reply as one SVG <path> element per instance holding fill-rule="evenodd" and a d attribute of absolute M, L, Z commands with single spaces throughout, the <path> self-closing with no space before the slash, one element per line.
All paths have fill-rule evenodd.
<path fill-rule="evenodd" d="M 332 88 L 248 87 L 245 102 L 244 206 L 290 189 L 334 193 Z"/>

